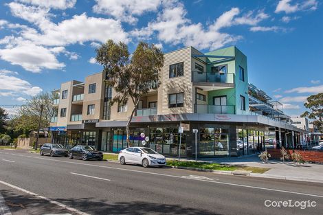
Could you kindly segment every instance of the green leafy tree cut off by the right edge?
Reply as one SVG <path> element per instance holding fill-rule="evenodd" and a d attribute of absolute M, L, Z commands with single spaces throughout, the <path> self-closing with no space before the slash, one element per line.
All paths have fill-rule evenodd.
<path fill-rule="evenodd" d="M 309 96 L 304 106 L 309 111 L 305 111 L 301 117 L 309 117 L 314 120 L 313 124 L 318 127 L 320 132 L 323 132 L 323 93 Z"/>

